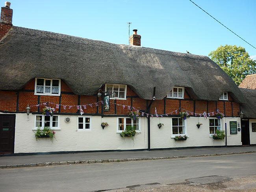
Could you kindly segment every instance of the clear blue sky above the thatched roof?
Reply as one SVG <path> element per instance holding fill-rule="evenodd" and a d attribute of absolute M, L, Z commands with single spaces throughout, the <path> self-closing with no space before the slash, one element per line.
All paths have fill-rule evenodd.
<path fill-rule="evenodd" d="M 217 23 L 189 0 L 9 0 L 13 25 L 128 44 L 133 29 L 141 46 L 207 55 L 220 45 L 256 49 Z M 4 6 L 0 1 L 1 7 Z M 256 0 L 193 0 L 256 47 Z"/>

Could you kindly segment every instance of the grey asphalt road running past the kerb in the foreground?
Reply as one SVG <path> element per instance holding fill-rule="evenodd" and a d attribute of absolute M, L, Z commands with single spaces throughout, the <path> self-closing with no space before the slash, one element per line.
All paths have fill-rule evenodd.
<path fill-rule="evenodd" d="M 219 175 L 256 175 L 256 153 L 152 161 L 72 164 L 0 170 L 2 192 L 87 192 L 181 183 Z M 208 177 L 213 178 L 213 177 Z M 209 181 L 211 182 L 211 181 Z M 159 183 L 159 184 L 158 184 Z"/>

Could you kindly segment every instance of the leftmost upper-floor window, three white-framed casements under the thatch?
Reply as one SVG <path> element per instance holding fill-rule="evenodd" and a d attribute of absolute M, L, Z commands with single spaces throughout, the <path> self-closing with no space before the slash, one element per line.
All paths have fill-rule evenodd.
<path fill-rule="evenodd" d="M 35 95 L 60 95 L 60 79 L 35 78 Z"/>

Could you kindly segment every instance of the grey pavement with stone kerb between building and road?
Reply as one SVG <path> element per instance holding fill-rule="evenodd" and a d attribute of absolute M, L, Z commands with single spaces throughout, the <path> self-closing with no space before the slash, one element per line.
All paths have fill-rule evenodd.
<path fill-rule="evenodd" d="M 80 161 L 80 160 L 108 160 L 108 159 L 132 159 L 132 158 L 154 158 L 154 157 L 176 157 L 221 153 L 237 153 L 255 151 L 256 146 L 227 147 L 227 148 L 195 148 L 182 150 L 152 150 L 152 151 L 113 151 L 113 152 L 88 152 L 88 153 L 68 153 L 51 155 L 26 155 L 1 157 L 1 165 L 30 164 L 39 162 L 60 162 Z M 122 161 L 122 160 L 121 160 Z M 103 161 L 104 162 L 104 161 Z M 30 166 L 30 165 L 27 165 Z M 33 165 L 36 166 L 36 165 Z"/>

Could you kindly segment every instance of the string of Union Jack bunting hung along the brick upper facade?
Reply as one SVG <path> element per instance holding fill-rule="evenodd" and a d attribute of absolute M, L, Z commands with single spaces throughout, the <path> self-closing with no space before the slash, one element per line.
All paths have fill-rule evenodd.
<path fill-rule="evenodd" d="M 76 107 L 78 110 L 80 110 L 80 113 L 81 113 L 81 115 L 82 115 L 82 114 L 84 113 L 84 112 L 83 112 L 83 109 L 87 109 L 87 107 L 86 107 L 87 105 L 90 106 L 90 107 L 93 107 L 93 106 L 97 107 L 99 103 L 101 103 L 102 105 L 104 104 L 103 101 L 95 102 L 95 103 L 90 103 L 90 104 L 86 104 L 86 105 L 61 105 L 61 104 L 56 104 L 56 103 L 52 103 L 52 102 L 45 102 L 45 103 L 41 103 L 41 104 L 37 104 L 37 105 L 30 105 L 30 107 L 34 107 L 34 106 L 39 107 L 40 105 L 45 105 L 46 107 L 48 107 L 48 104 L 55 105 L 55 106 L 56 106 L 56 109 L 59 109 L 59 107 L 63 106 L 63 109 L 64 109 L 64 110 L 66 110 L 67 107 L 68 107 L 68 109 L 71 109 L 72 107 Z M 195 115 L 195 116 L 200 116 L 200 117 L 202 117 L 202 116 L 203 116 L 203 117 L 206 117 L 207 115 L 208 115 L 208 116 L 214 116 L 215 113 L 220 113 L 220 114 L 222 114 L 222 115 L 224 116 L 224 114 L 221 113 L 221 112 L 219 111 L 219 109 L 217 109 L 217 111 L 213 111 L 213 112 L 210 112 L 210 113 L 206 113 L 206 112 L 204 112 L 204 113 L 194 113 L 194 112 L 188 111 L 188 110 L 183 109 L 183 108 L 180 107 L 180 108 L 178 108 L 178 109 L 176 109 L 176 110 L 174 110 L 174 111 L 172 111 L 172 112 L 170 112 L 170 113 L 157 114 L 156 107 L 155 107 L 155 114 L 150 114 L 150 113 L 145 113 L 145 112 L 143 112 L 143 111 L 140 111 L 140 110 L 138 110 L 138 109 L 136 109 L 135 107 L 132 107 L 132 106 L 130 106 L 130 105 L 121 105 L 121 104 L 113 103 L 113 102 L 109 102 L 109 103 L 115 104 L 115 105 L 117 105 L 117 106 L 122 106 L 123 109 L 125 109 L 125 108 L 127 107 L 128 110 L 137 111 L 137 116 L 139 116 L 138 113 L 140 112 L 140 113 L 141 113 L 141 116 L 146 115 L 147 117 L 148 117 L 148 116 L 151 116 L 151 117 L 154 117 L 154 116 L 155 116 L 155 117 L 163 117 L 163 116 L 168 116 L 169 114 L 171 114 L 171 115 L 172 115 L 172 114 L 179 114 L 179 112 L 178 112 L 179 110 L 186 111 L 187 115 Z M 52 111 L 55 111 L 54 108 L 51 108 L 51 109 L 52 109 Z"/>

